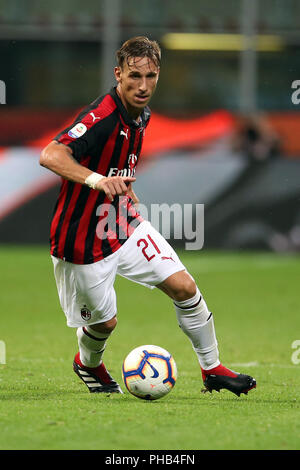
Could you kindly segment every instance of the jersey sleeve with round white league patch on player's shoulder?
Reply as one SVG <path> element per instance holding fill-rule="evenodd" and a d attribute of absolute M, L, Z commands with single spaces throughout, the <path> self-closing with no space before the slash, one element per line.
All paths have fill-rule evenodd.
<path fill-rule="evenodd" d="M 99 132 L 101 117 L 96 115 L 96 111 L 89 111 L 76 118 L 73 124 L 54 137 L 54 140 L 70 147 L 73 157 L 80 162 L 95 148 Z"/>

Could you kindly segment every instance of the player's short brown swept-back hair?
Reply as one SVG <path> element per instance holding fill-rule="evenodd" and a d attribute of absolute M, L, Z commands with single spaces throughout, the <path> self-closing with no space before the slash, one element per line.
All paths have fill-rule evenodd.
<path fill-rule="evenodd" d="M 129 63 L 131 57 L 149 57 L 157 67 L 160 66 L 161 50 L 156 41 L 146 36 L 136 36 L 125 41 L 116 53 L 119 67 Z"/>

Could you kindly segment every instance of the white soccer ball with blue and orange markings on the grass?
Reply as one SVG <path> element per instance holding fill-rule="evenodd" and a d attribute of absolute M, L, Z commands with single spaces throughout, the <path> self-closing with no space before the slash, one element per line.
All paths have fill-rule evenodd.
<path fill-rule="evenodd" d="M 123 362 L 123 380 L 127 390 L 144 400 L 157 400 L 169 393 L 177 379 L 177 367 L 165 349 L 145 345 L 133 349 Z"/>

